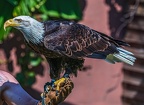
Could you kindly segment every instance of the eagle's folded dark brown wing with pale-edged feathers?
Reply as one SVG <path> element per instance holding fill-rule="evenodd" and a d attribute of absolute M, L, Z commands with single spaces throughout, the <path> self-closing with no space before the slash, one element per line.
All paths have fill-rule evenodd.
<path fill-rule="evenodd" d="M 116 47 L 127 45 L 74 22 L 48 21 L 44 26 L 44 46 L 71 58 L 91 57 L 93 54 L 106 57 L 118 53 Z"/>

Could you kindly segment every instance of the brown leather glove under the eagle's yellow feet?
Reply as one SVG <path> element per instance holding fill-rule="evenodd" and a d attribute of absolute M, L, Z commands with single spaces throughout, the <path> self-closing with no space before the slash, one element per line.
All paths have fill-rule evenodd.
<path fill-rule="evenodd" d="M 51 85 L 49 85 L 47 88 L 48 91 L 41 94 L 42 100 L 38 103 L 38 105 L 58 105 L 71 93 L 74 88 L 74 84 L 70 78 L 66 78 L 66 81 L 60 84 L 59 92 L 56 91 L 56 86 L 52 88 Z"/>

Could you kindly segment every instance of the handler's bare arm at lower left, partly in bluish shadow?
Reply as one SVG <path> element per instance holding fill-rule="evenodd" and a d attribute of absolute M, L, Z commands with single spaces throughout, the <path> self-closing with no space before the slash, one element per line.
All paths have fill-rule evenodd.
<path fill-rule="evenodd" d="M 11 74 L 0 70 L 0 105 L 2 101 L 8 105 L 37 105 L 38 103 L 38 100 L 23 90 Z"/>

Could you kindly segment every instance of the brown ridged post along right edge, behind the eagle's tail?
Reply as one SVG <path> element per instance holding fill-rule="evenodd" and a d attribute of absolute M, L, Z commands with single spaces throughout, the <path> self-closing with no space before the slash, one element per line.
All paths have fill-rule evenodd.
<path fill-rule="evenodd" d="M 140 0 L 135 17 L 127 27 L 125 41 L 131 45 L 127 49 L 137 60 L 134 66 L 123 66 L 123 105 L 144 105 L 144 0 Z"/>

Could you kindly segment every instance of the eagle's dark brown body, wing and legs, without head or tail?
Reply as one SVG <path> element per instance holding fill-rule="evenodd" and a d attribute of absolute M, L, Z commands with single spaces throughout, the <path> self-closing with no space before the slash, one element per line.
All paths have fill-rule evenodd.
<path fill-rule="evenodd" d="M 50 64 L 50 76 L 58 79 L 63 70 L 77 75 L 82 69 L 84 57 L 106 59 L 119 53 L 117 47 L 127 46 L 87 26 L 69 21 L 44 22 L 45 33 L 39 44 L 29 42 L 36 52 L 43 54 Z"/>

